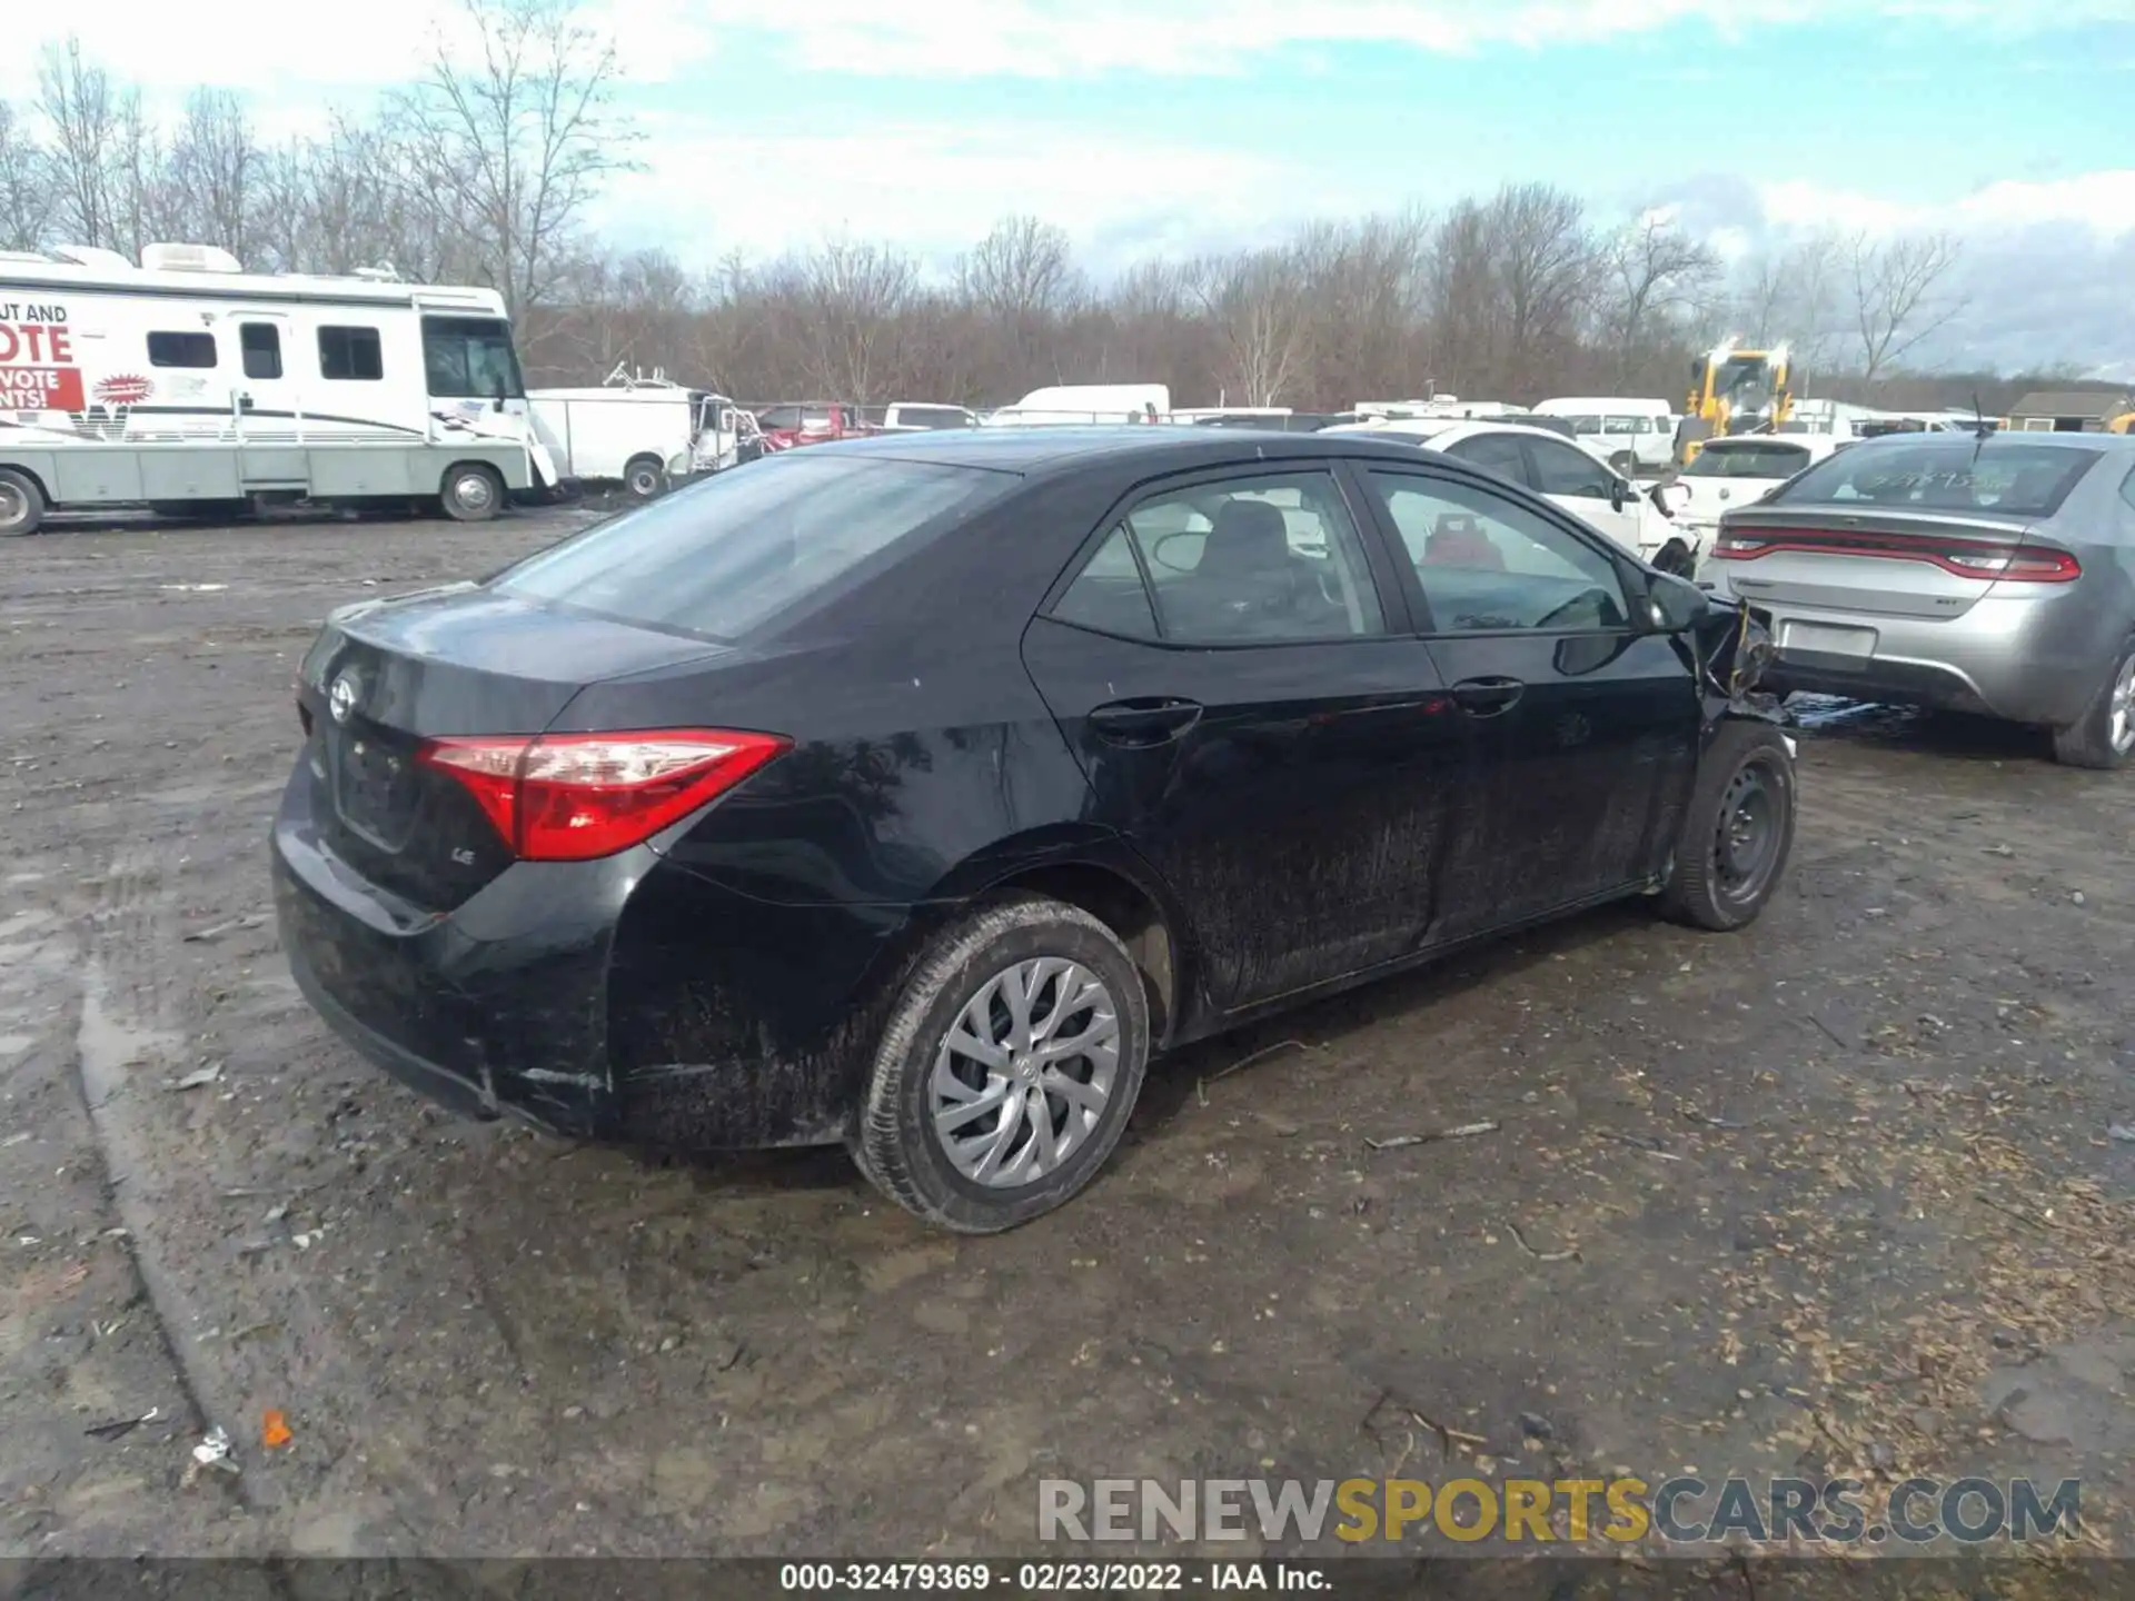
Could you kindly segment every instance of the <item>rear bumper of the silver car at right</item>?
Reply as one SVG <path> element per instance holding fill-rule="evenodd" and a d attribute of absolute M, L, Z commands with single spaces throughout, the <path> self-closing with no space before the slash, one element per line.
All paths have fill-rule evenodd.
<path fill-rule="evenodd" d="M 1802 606 L 1731 585 L 1727 564 L 1708 561 L 1699 581 L 1740 596 L 1772 617 L 1778 651 L 1764 687 L 1808 689 L 1855 700 L 1973 711 L 2020 724 L 2073 724 L 2099 687 L 2105 643 L 2071 625 L 2073 596 L 1994 596 L 1962 617 L 1892 617 Z M 1808 643 L 1810 632 L 1847 630 L 1855 649 Z M 1830 634 L 1825 634 L 1825 640 Z"/>

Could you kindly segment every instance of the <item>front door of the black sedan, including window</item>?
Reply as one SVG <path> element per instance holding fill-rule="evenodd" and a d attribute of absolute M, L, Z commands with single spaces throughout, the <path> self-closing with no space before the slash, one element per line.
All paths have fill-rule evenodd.
<path fill-rule="evenodd" d="M 1672 640 L 1631 630 L 1618 559 L 1512 491 L 1407 465 L 1362 478 L 1409 555 L 1411 608 L 1477 764 L 1426 941 L 1657 873 L 1697 698 Z"/>

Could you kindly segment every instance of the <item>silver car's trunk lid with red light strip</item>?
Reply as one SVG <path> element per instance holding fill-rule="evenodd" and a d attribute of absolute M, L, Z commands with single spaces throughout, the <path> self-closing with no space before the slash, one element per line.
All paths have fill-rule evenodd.
<path fill-rule="evenodd" d="M 1723 517 L 1714 559 L 1757 606 L 1949 619 L 1994 587 L 1990 564 L 2020 546 L 2058 551 L 2024 517 L 1753 506 Z"/>

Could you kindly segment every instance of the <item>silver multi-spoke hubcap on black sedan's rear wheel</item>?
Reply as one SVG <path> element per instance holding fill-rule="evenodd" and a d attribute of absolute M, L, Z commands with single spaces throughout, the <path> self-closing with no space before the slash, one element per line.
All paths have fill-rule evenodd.
<path fill-rule="evenodd" d="M 1119 1078 L 1119 1003 L 1080 963 L 1033 956 L 980 984 L 935 1052 L 929 1099 L 965 1178 L 1044 1178 L 1095 1131 Z"/>

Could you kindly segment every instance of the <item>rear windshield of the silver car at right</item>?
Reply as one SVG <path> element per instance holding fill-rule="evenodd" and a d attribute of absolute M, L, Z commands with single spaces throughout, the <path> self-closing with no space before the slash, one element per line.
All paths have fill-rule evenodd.
<path fill-rule="evenodd" d="M 2097 450 L 1934 438 L 1825 457 L 1766 504 L 1836 502 L 2052 517 Z"/>

